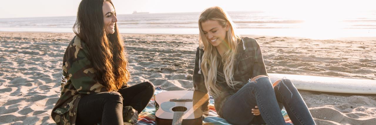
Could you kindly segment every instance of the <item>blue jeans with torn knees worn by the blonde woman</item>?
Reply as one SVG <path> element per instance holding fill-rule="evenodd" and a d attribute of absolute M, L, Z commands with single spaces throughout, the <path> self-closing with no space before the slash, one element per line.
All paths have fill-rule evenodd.
<path fill-rule="evenodd" d="M 294 125 L 315 125 L 302 96 L 288 79 L 282 79 L 274 88 L 266 76 L 256 79 L 256 82 L 248 82 L 227 98 L 222 112 L 224 119 L 234 125 L 285 125 L 282 105 Z M 255 106 L 258 106 L 261 115 L 251 113 Z"/>

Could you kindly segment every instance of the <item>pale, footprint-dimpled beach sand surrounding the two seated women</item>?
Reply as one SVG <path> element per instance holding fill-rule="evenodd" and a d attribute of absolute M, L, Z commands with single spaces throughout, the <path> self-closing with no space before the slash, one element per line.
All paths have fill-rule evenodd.
<path fill-rule="evenodd" d="M 62 57 L 73 33 L 0 32 L 0 124 L 53 124 Z M 132 80 L 193 90 L 198 35 L 123 34 Z M 252 36 L 268 73 L 376 79 L 376 39 Z M 318 125 L 376 123 L 376 95 L 299 90 Z"/>

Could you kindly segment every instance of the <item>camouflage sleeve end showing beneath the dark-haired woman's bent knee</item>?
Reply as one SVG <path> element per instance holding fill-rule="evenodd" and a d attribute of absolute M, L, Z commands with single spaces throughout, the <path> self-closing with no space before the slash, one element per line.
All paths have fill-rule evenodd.
<path fill-rule="evenodd" d="M 124 106 L 123 121 L 130 124 L 136 124 L 138 122 L 138 112 L 133 109 L 132 106 Z"/>

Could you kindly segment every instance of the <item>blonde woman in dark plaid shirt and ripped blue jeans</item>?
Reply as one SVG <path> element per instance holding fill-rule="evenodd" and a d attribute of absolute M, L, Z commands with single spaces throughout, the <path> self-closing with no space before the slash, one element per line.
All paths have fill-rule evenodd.
<path fill-rule="evenodd" d="M 236 125 L 282 125 L 280 110 L 285 106 L 294 125 L 315 124 L 290 80 L 279 80 L 273 88 L 260 46 L 253 38 L 236 35 L 220 7 L 201 13 L 199 30 L 193 85 L 195 91 L 210 92 L 218 115 Z"/>

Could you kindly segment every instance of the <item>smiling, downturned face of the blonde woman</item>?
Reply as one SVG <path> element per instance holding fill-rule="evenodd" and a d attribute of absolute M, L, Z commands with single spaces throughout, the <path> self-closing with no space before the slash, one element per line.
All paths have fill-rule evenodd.
<path fill-rule="evenodd" d="M 226 32 L 229 30 L 229 25 L 225 27 L 219 24 L 218 21 L 208 20 L 201 23 L 202 31 L 206 39 L 213 46 L 218 46 L 225 41 Z"/>

